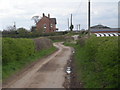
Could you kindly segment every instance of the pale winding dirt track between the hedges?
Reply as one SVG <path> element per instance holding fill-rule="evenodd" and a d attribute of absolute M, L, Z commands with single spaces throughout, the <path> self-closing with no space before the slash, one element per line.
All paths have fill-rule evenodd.
<path fill-rule="evenodd" d="M 40 60 L 5 88 L 64 88 L 64 67 L 70 59 L 72 49 L 62 43 L 54 43 L 54 46 L 59 49 L 57 52 Z"/>

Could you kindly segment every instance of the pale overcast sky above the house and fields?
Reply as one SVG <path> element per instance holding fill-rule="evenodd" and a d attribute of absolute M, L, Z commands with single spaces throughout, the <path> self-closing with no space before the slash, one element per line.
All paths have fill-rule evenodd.
<path fill-rule="evenodd" d="M 59 30 L 67 29 L 67 18 L 73 14 L 73 24 L 87 28 L 88 0 L 0 0 L 0 30 L 12 26 L 30 29 L 34 25 L 32 16 L 42 17 L 42 13 L 57 19 Z M 91 24 L 118 27 L 119 0 L 91 0 Z"/>

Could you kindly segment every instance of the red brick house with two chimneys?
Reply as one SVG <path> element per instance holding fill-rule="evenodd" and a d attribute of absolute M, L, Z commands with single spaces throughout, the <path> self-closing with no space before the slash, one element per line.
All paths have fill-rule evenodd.
<path fill-rule="evenodd" d="M 36 29 L 41 32 L 55 32 L 58 30 L 56 28 L 56 18 L 50 18 L 50 14 L 48 16 L 45 16 L 43 13 L 43 17 L 38 21 L 36 24 Z"/>

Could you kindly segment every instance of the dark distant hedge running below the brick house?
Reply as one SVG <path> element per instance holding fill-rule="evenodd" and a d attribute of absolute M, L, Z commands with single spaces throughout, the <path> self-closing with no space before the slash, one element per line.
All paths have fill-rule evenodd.
<path fill-rule="evenodd" d="M 2 37 L 11 37 L 11 38 L 37 38 L 37 37 L 47 37 L 47 36 L 60 36 L 60 35 L 65 35 L 68 32 L 64 31 L 64 32 L 50 32 L 50 33 L 42 33 L 40 31 L 27 31 L 27 32 L 23 32 L 23 30 L 20 30 L 21 32 L 19 32 L 19 30 L 17 31 L 3 31 L 2 32 Z"/>

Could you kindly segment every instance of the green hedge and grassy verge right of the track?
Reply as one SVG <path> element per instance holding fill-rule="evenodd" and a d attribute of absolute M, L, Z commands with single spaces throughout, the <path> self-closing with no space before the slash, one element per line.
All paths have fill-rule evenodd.
<path fill-rule="evenodd" d="M 118 88 L 118 38 L 91 37 L 85 45 L 65 43 L 75 48 L 78 79 L 85 88 Z"/>

